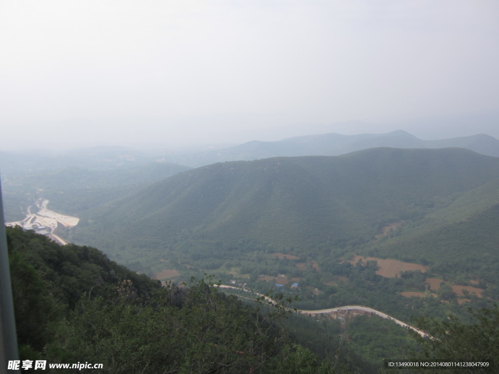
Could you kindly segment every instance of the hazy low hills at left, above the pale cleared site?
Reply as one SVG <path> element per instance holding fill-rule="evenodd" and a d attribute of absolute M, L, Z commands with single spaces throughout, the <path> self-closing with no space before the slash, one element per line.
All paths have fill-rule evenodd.
<path fill-rule="evenodd" d="M 90 153 L 88 158 L 85 157 L 87 152 Z M 116 157 L 122 152 L 120 149 L 116 153 L 106 150 L 100 154 L 97 150 L 87 150 L 78 152 L 79 157 L 75 159 L 58 156 L 47 158 L 46 162 L 43 159 L 16 159 L 2 174 L 6 221 L 22 219 L 27 206 L 36 198 L 49 199 L 50 207 L 57 211 L 81 214 L 98 204 L 127 196 L 147 183 L 190 169 L 170 163 Z M 126 155 L 130 156 L 130 153 Z M 63 168 L 49 169 L 59 165 Z"/>

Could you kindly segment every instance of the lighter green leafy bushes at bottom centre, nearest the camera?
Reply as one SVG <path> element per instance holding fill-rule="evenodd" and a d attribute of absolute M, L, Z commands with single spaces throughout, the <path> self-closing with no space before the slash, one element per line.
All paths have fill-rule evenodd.
<path fill-rule="evenodd" d="M 47 360 L 102 363 L 103 373 L 334 373 L 287 339 L 282 298 L 248 308 L 201 280 L 144 303 L 129 297 L 132 288 L 122 282 L 112 303 L 83 297 L 47 345 Z"/>

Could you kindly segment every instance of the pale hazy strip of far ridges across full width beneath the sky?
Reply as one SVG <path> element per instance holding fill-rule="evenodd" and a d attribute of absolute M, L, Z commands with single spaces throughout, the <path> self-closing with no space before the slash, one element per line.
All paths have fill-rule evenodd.
<path fill-rule="evenodd" d="M 159 141 L 159 140 L 158 140 Z M 250 161 L 269 157 L 338 156 L 368 148 L 465 148 L 499 157 L 499 140 L 486 134 L 422 140 L 403 130 L 382 134 L 325 133 L 285 138 L 274 142 L 253 140 L 239 145 L 205 144 L 175 147 L 156 143 L 147 147 L 99 146 L 76 150 L 0 151 L 3 175 L 36 173 L 63 168 L 110 170 L 169 162 L 199 167 L 217 162 Z"/>

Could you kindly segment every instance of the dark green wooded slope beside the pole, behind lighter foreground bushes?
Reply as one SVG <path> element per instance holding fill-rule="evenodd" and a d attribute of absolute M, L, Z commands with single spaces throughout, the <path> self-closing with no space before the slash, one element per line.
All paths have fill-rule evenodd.
<path fill-rule="evenodd" d="M 111 299 L 121 279 L 130 279 L 139 294 L 159 288 L 157 282 L 109 261 L 94 248 L 60 246 L 19 227 L 7 227 L 6 232 L 21 352 L 41 354 L 58 322 L 84 292 L 88 298 Z"/>

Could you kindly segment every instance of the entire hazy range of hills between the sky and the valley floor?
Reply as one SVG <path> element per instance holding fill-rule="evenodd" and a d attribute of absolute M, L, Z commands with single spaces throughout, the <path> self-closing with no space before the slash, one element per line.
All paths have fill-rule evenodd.
<path fill-rule="evenodd" d="M 116 147 L 20 158 L 17 173 L 12 158 L 4 206 L 16 220 L 26 196 L 26 204 L 48 198 L 51 209 L 81 218 L 59 228 L 62 237 L 121 262 L 180 255 L 206 268 L 254 248 L 425 264 L 495 258 L 498 143 L 487 135 L 423 141 L 404 131 L 310 135 L 191 152 L 189 164 L 203 164 L 197 169 L 165 163 L 172 153 Z M 396 232 L 382 234 L 390 225 Z"/>

